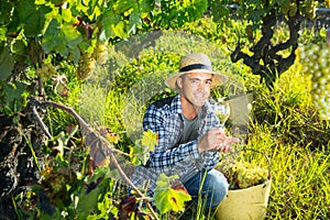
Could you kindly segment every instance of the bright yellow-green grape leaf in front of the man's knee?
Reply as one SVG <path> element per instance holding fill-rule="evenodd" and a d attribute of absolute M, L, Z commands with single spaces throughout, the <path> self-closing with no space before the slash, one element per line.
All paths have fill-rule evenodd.
<path fill-rule="evenodd" d="M 167 177 L 161 174 L 157 179 L 157 187 L 154 193 L 154 204 L 161 213 L 173 211 L 184 211 L 185 202 L 191 200 L 189 194 L 185 190 L 176 190 L 170 187 L 170 180 L 178 178 L 178 176 Z"/>

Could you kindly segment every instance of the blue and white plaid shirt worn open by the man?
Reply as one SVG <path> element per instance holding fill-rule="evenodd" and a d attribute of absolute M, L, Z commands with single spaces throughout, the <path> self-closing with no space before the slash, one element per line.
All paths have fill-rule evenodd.
<path fill-rule="evenodd" d="M 198 139 L 212 128 L 219 128 L 219 119 L 212 113 L 208 100 L 198 113 Z M 150 160 L 144 166 L 139 166 L 132 182 L 140 186 L 150 179 L 148 190 L 153 191 L 161 173 L 167 176 L 178 175 L 185 183 L 199 170 L 212 169 L 219 162 L 219 152 L 206 151 L 198 153 L 197 140 L 179 144 L 184 130 L 183 109 L 180 97 L 157 101 L 145 111 L 143 129 L 158 133 L 158 145 L 150 153 Z"/>

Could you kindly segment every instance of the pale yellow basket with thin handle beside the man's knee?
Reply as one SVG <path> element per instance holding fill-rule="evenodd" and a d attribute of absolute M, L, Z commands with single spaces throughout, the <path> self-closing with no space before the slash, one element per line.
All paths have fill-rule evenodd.
<path fill-rule="evenodd" d="M 255 151 L 255 150 L 253 150 Z M 267 158 L 267 157 L 266 157 Z M 271 163 L 268 179 L 260 185 L 244 189 L 231 189 L 216 211 L 217 220 L 257 220 L 263 219 L 271 191 Z"/>

